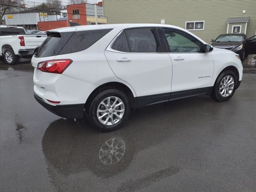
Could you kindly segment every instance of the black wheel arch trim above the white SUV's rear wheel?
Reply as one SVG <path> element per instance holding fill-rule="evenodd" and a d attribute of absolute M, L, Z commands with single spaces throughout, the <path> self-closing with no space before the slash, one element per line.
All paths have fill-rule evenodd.
<path fill-rule="evenodd" d="M 108 82 L 105 84 L 102 84 L 100 86 L 98 86 L 97 88 L 95 88 L 92 93 L 89 95 L 89 97 L 87 98 L 86 102 L 85 102 L 85 111 L 88 111 L 90 104 L 92 102 L 92 100 L 102 91 L 107 90 L 107 89 L 118 89 L 122 92 L 124 92 L 130 101 L 131 104 L 131 108 L 136 108 L 137 107 L 137 100 L 136 97 L 134 96 L 134 94 L 132 93 L 132 90 L 130 90 L 130 88 L 128 86 L 126 86 L 123 83 L 120 82 Z"/>

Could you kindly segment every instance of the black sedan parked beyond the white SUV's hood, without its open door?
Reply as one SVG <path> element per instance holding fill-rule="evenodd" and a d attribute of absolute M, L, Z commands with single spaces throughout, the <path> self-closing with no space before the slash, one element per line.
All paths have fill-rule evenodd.
<path fill-rule="evenodd" d="M 247 40 L 247 37 L 245 34 L 221 34 L 216 38 L 216 40 L 212 41 L 212 46 L 222 49 L 228 49 L 236 52 L 239 54 L 241 60 L 244 59 L 245 52 L 244 47 L 241 46 L 245 41 Z"/>

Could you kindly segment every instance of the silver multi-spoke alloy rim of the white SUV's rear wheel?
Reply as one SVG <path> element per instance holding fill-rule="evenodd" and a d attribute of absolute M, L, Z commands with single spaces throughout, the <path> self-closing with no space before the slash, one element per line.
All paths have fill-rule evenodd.
<path fill-rule="evenodd" d="M 98 120 L 104 125 L 114 125 L 124 116 L 124 102 L 115 96 L 107 97 L 97 108 Z"/>

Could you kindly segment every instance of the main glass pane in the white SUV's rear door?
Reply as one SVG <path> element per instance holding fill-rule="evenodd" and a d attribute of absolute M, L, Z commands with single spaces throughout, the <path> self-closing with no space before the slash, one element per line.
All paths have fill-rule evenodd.
<path fill-rule="evenodd" d="M 154 53 L 161 52 L 155 28 L 137 28 L 125 30 L 130 52 Z"/>

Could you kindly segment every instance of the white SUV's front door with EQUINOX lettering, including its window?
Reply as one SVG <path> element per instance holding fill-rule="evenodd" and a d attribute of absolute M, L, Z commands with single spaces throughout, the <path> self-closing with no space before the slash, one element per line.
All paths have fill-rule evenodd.
<path fill-rule="evenodd" d="M 214 72 L 210 52 L 202 53 L 201 43 L 181 30 L 163 28 L 172 60 L 172 92 L 209 87 Z"/>

